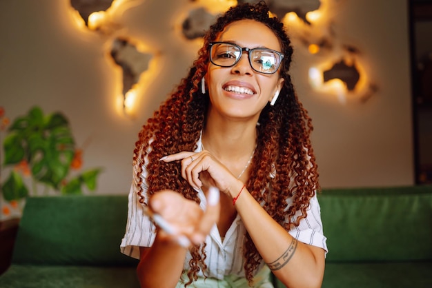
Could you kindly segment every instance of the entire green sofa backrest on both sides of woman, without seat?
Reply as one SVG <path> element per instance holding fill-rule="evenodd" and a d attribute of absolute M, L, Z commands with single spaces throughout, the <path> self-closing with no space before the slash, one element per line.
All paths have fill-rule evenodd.
<path fill-rule="evenodd" d="M 432 259 L 432 186 L 323 189 L 328 262 Z M 12 263 L 137 265 L 119 251 L 126 195 L 27 200 Z"/>

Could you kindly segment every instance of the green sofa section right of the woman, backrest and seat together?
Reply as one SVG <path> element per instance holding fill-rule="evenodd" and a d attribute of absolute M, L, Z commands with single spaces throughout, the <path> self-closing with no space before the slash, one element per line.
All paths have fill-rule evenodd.
<path fill-rule="evenodd" d="M 322 287 L 432 287 L 432 186 L 324 189 L 319 200 Z"/>

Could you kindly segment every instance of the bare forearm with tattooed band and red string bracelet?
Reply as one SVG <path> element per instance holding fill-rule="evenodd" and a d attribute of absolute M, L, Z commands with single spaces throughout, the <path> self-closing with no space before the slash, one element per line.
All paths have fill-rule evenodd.
<path fill-rule="evenodd" d="M 321 287 L 324 275 L 323 249 L 293 238 L 246 189 L 237 198 L 235 207 L 259 254 L 284 285 Z"/>

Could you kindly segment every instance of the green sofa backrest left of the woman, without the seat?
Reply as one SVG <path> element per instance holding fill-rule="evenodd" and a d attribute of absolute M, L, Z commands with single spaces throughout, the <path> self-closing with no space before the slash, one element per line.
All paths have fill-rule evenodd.
<path fill-rule="evenodd" d="M 12 263 L 137 265 L 137 260 L 119 250 L 127 201 L 126 195 L 28 198 Z"/>

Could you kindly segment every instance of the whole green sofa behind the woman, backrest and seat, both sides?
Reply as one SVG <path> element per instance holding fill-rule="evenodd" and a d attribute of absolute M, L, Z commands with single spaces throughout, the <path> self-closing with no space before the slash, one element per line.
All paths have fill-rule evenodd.
<path fill-rule="evenodd" d="M 322 287 L 432 287 L 432 186 L 323 189 Z M 139 287 L 127 196 L 28 198 L 0 287 Z M 275 287 L 284 287 L 275 280 Z"/>

